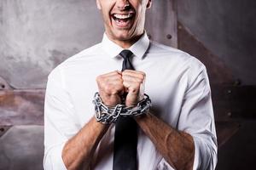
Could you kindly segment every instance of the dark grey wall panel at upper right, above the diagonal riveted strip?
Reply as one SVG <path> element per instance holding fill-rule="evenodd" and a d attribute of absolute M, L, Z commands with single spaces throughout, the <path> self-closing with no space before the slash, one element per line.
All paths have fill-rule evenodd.
<path fill-rule="evenodd" d="M 177 19 L 242 84 L 256 84 L 255 9 L 255 0 L 177 0 Z"/>

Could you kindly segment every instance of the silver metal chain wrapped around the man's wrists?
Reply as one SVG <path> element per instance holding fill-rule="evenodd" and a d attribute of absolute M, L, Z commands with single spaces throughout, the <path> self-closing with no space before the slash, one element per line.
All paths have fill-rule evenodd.
<path fill-rule="evenodd" d="M 93 99 L 95 105 L 95 116 L 97 122 L 111 124 L 116 122 L 119 116 L 140 116 L 148 112 L 151 106 L 151 100 L 147 94 L 135 106 L 126 107 L 125 105 L 116 105 L 110 107 L 104 105 L 99 93 L 96 93 Z"/>

